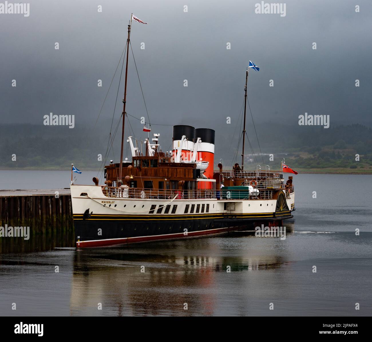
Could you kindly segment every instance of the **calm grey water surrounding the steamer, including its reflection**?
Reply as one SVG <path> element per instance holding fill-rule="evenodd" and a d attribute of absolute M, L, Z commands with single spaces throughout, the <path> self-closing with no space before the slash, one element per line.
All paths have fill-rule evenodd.
<path fill-rule="evenodd" d="M 55 172 L 6 178 L 57 188 L 68 186 L 63 174 L 64 183 Z M 3 242 L 0 315 L 371 316 L 371 184 L 369 175 L 294 176 L 297 210 L 285 240 L 240 231 L 77 251 L 57 232 Z"/>

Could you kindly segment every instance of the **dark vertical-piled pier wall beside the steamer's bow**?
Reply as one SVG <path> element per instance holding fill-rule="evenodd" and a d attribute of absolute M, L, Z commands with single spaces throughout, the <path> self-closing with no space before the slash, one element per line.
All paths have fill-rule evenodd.
<path fill-rule="evenodd" d="M 30 227 L 31 234 L 73 230 L 70 189 L 0 190 L 0 226 Z"/>

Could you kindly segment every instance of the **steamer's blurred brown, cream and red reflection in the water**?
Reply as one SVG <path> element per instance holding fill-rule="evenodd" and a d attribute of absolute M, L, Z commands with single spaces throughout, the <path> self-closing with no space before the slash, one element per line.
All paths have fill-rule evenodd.
<path fill-rule="evenodd" d="M 287 230 L 289 238 L 289 227 Z M 243 242 L 247 243 L 244 248 Z M 266 289 L 271 281 L 281 284 L 285 277 L 275 272 L 290 263 L 282 242 L 238 231 L 124 248 L 77 250 L 70 314 L 250 314 L 251 298 L 262 293 L 259 271 L 273 271 Z M 264 247 L 267 244 L 271 245 L 269 251 Z M 278 297 L 282 291 L 280 286 L 270 287 L 271 296 Z M 99 303 L 102 310 L 98 310 Z"/>

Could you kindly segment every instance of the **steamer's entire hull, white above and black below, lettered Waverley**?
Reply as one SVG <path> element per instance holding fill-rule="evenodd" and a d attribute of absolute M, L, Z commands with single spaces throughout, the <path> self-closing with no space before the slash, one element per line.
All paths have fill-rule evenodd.
<path fill-rule="evenodd" d="M 81 188 L 80 188 L 81 187 Z M 255 222 L 278 222 L 293 217 L 289 208 L 275 210 L 276 200 L 221 201 L 217 199 L 174 200 L 177 212 L 172 214 L 156 214 L 157 209 L 169 201 L 155 199 L 123 199 L 105 198 L 94 194 L 100 187 L 71 186 L 73 217 L 77 247 L 98 247 L 145 242 L 162 239 L 185 239 L 194 236 L 224 233 L 235 230 L 236 227 L 252 226 Z M 93 190 L 93 191 L 92 191 Z M 80 193 L 90 193 L 80 196 Z M 74 196 L 75 195 L 75 196 Z M 106 202 L 106 203 L 102 203 Z M 209 212 L 198 214 L 185 213 L 185 206 L 208 204 Z M 236 210 L 227 210 L 225 203 L 234 204 Z M 123 210 L 117 210 L 108 205 L 117 205 Z M 149 212 L 151 205 L 155 210 Z M 124 211 L 131 207 L 132 211 Z M 264 208 L 272 208 L 266 212 Z M 137 209 L 138 208 L 138 209 Z M 147 211 L 144 209 L 147 208 Z M 244 209 L 245 208 L 245 209 Z M 248 211 L 248 208 L 252 208 Z M 134 210 L 137 212 L 133 212 Z M 275 210 L 275 211 L 274 211 Z"/>

